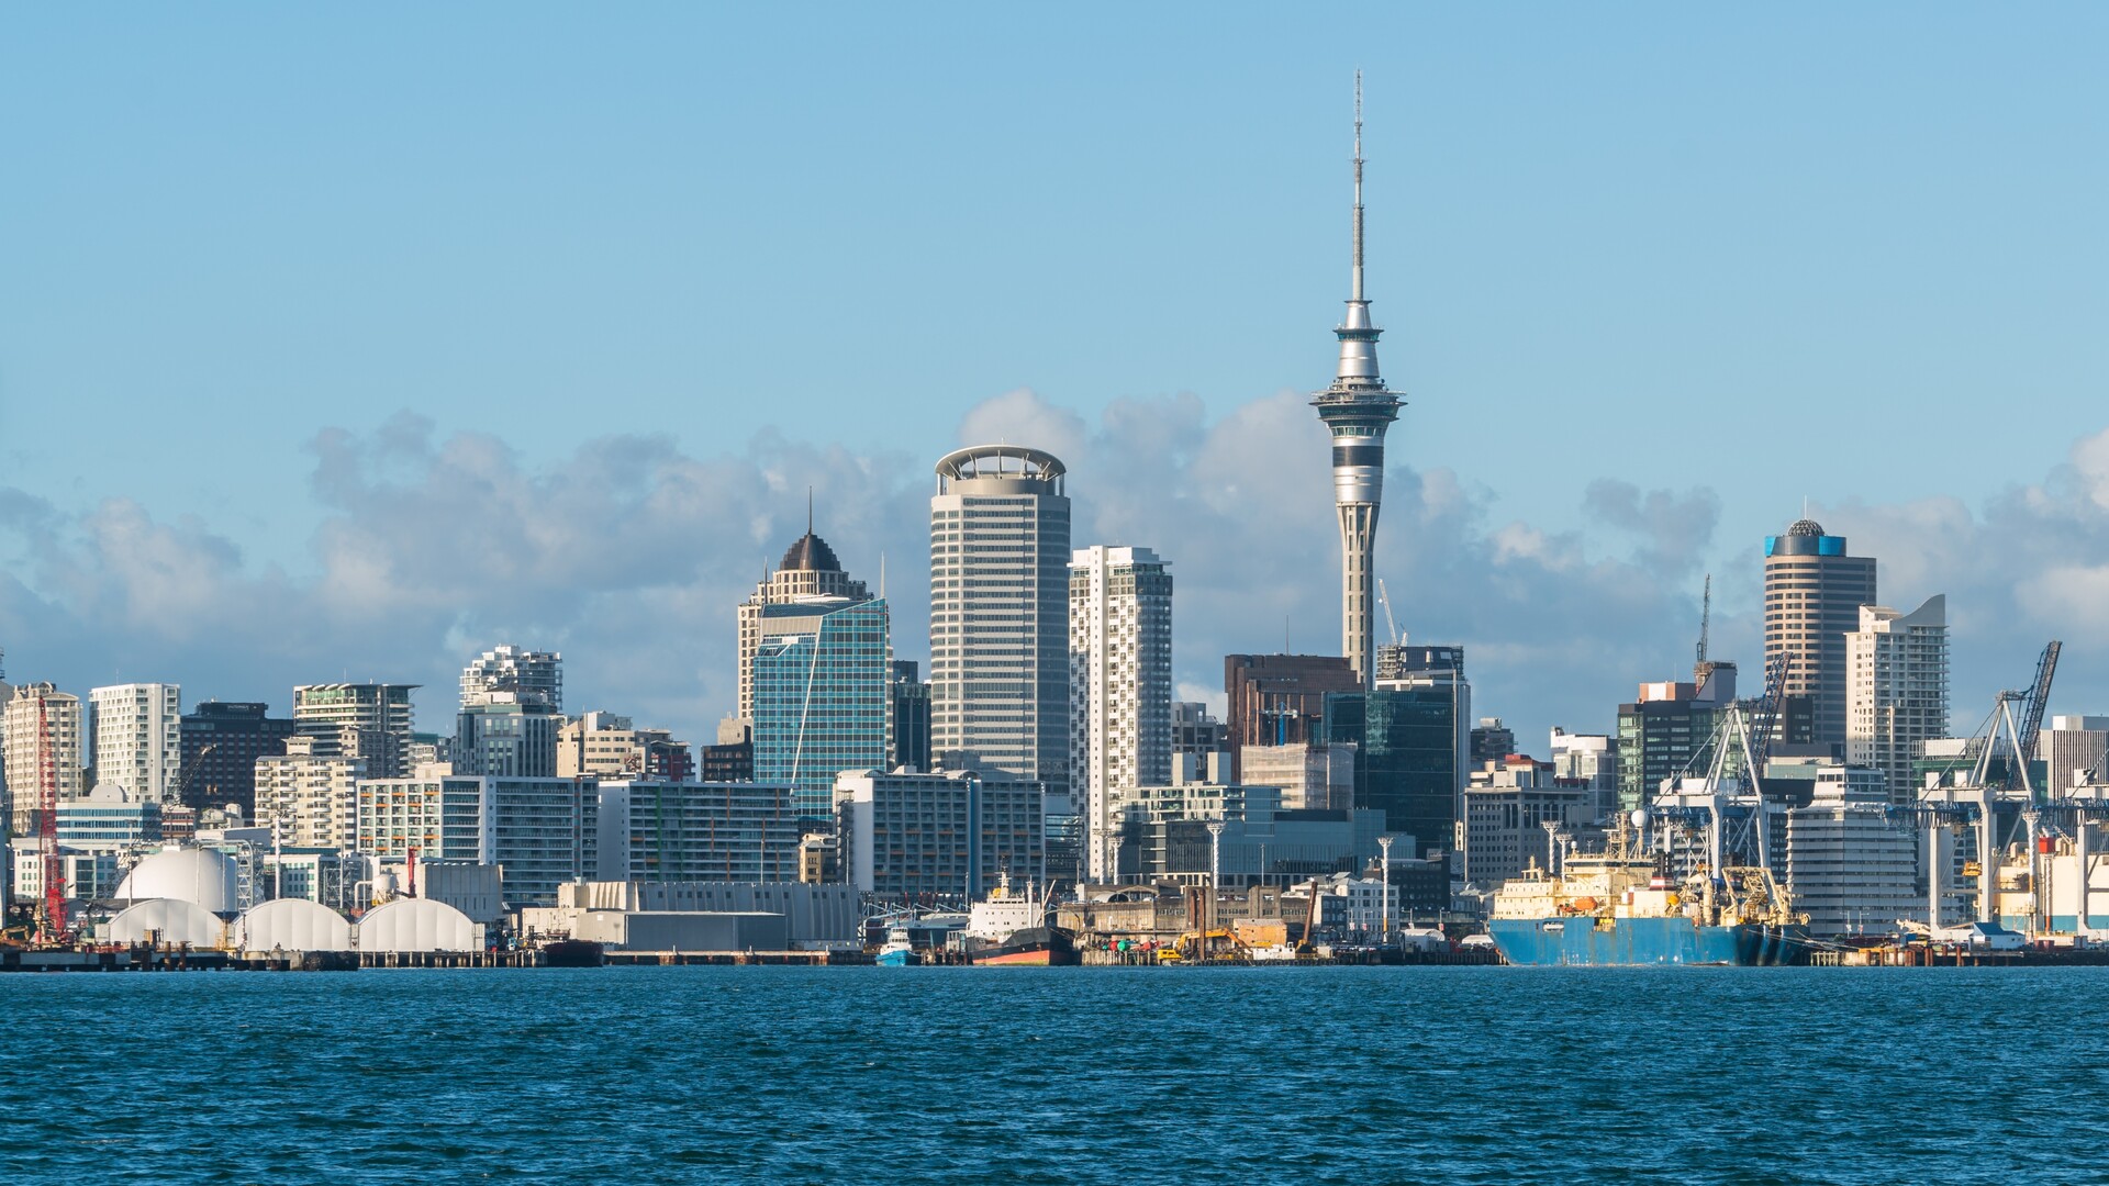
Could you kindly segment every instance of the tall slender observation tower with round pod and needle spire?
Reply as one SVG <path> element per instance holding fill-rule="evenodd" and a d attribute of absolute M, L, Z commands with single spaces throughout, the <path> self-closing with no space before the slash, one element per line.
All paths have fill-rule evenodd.
<path fill-rule="evenodd" d="M 1384 431 L 1398 420 L 1402 399 L 1377 376 L 1377 329 L 1362 293 L 1362 72 L 1354 72 L 1354 279 L 1348 321 L 1339 336 L 1339 371 L 1333 386 L 1312 397 L 1318 418 L 1333 431 L 1333 506 L 1339 511 L 1339 646 L 1354 673 L 1369 686 L 1371 568 L 1377 551 L 1377 506 L 1384 502 Z"/>

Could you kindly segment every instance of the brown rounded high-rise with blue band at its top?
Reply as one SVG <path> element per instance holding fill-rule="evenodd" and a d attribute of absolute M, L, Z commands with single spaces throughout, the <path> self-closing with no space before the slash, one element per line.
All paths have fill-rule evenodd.
<path fill-rule="evenodd" d="M 1845 635 L 1875 604 L 1875 557 L 1845 555 L 1845 536 L 1797 519 L 1765 536 L 1765 665 L 1788 654 L 1786 694 L 1807 696 L 1818 745 L 1845 743 Z"/>

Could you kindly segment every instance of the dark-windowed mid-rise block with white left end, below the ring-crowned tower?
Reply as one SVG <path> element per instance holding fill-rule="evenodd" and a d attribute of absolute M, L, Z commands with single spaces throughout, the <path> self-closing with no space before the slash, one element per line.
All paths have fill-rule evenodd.
<path fill-rule="evenodd" d="M 972 770 L 844 770 L 835 781 L 850 884 L 888 901 L 974 899 L 1046 880 L 1042 787 Z"/>

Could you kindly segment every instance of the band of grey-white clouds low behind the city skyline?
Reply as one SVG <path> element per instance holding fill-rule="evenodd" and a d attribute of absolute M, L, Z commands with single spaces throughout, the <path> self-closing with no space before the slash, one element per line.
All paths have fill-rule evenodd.
<path fill-rule="evenodd" d="M 1124 399 L 1097 422 L 1029 390 L 974 405 L 955 443 L 1010 441 L 1069 464 L 1076 542 L 1173 561 L 1175 677 L 1221 690 L 1221 656 L 1339 646 L 1339 542 L 1327 439 L 1303 397 L 1211 420 L 1196 397 Z M 211 523 L 108 500 L 76 511 L 0 487 L 0 644 L 17 680 L 86 690 L 175 680 L 186 705 L 327 680 L 426 684 L 420 724 L 447 730 L 462 663 L 498 642 L 565 652 L 567 707 L 605 707 L 709 741 L 734 701 L 734 606 L 806 528 L 873 585 L 894 648 L 928 646 L 928 458 L 763 435 L 698 454 L 656 433 L 531 462 L 502 439 L 439 439 L 401 414 L 310 441 L 318 523 L 302 563 L 257 561 Z M 1727 492 L 1729 498 L 1738 492 Z M 1641 680 L 1689 669 L 1698 576 L 1723 494 L 1601 479 L 1592 528 L 1499 521 L 1493 490 L 1453 468 L 1388 473 L 1379 570 L 1398 627 L 1466 646 L 1474 705 L 1518 726 L 1611 728 Z M 1881 557 L 1883 599 L 1949 593 L 1955 718 L 2027 680 L 2067 642 L 2058 711 L 2109 707 L 2109 431 L 2042 481 L 1980 509 L 1951 498 L 1816 511 Z M 1784 523 L 1782 523 L 1784 528 Z M 884 559 L 882 559 L 884 557 Z M 1759 553 L 1717 566 L 1715 654 L 1755 673 Z M 1725 568 L 1725 572 L 1723 572 Z M 1379 631 L 1381 614 L 1379 614 Z"/>

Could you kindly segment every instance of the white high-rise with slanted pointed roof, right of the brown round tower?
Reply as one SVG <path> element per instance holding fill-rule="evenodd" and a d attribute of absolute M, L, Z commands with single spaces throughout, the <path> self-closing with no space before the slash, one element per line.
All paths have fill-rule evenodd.
<path fill-rule="evenodd" d="M 1909 614 L 1860 606 L 1845 635 L 1845 760 L 1881 770 L 1892 804 L 1915 804 L 1919 747 L 1949 734 L 1949 599 Z"/>

